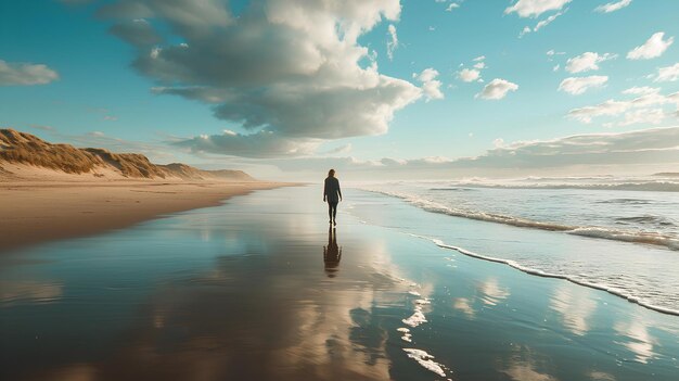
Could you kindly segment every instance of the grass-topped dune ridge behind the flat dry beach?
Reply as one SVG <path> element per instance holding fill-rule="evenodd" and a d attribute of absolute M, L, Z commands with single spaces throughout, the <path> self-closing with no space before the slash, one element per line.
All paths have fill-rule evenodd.
<path fill-rule="evenodd" d="M 34 135 L 0 129 L 0 175 L 21 175 L 8 163 L 65 174 L 137 179 L 256 181 L 242 170 L 203 170 L 181 163 L 153 164 L 139 153 L 113 153 L 98 148 L 79 149 L 47 142 Z"/>

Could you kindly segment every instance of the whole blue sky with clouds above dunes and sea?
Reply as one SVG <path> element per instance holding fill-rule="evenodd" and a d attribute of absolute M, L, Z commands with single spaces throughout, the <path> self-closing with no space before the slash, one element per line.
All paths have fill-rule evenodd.
<path fill-rule="evenodd" d="M 0 127 L 260 178 L 679 164 L 676 0 L 0 2 Z"/>

